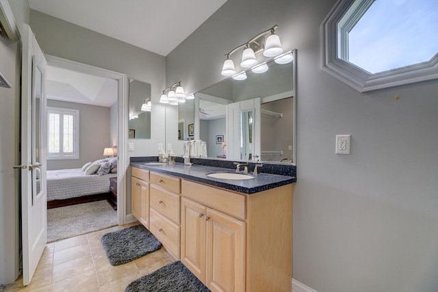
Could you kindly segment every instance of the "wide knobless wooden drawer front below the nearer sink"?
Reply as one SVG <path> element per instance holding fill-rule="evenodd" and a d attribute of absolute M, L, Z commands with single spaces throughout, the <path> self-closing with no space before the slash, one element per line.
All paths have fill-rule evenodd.
<path fill-rule="evenodd" d="M 195 202 L 245 220 L 245 196 L 200 183 L 181 181 L 181 194 Z"/>

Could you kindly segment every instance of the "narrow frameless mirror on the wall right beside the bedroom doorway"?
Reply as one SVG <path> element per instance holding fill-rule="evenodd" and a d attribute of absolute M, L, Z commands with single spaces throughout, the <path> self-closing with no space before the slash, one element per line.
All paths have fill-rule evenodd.
<path fill-rule="evenodd" d="M 129 79 L 129 139 L 151 139 L 151 109 L 142 110 L 150 100 L 151 84 Z"/>

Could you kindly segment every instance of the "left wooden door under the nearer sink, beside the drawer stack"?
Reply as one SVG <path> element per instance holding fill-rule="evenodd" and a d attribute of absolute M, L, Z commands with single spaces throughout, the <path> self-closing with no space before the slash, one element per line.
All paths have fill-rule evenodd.
<path fill-rule="evenodd" d="M 181 262 L 205 284 L 206 208 L 181 199 Z"/>

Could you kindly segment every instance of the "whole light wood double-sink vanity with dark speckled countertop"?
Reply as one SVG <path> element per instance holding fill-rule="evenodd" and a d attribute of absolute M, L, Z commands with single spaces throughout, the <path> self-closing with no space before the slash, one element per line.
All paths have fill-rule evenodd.
<path fill-rule="evenodd" d="M 292 291 L 292 176 L 132 163 L 132 214 L 211 291 Z"/>

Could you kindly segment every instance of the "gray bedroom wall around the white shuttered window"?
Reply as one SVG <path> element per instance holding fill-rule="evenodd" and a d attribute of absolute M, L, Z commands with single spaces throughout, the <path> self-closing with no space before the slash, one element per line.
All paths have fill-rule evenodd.
<path fill-rule="evenodd" d="M 110 107 L 47 100 L 48 107 L 79 109 L 79 159 L 47 160 L 47 170 L 81 168 L 88 161 L 103 159 L 103 148 L 110 144 Z"/>

